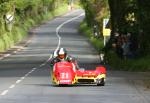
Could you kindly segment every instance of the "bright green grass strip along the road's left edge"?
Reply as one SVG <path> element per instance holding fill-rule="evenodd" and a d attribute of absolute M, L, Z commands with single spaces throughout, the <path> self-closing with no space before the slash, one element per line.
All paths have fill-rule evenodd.
<path fill-rule="evenodd" d="M 50 20 L 56 16 L 62 15 L 67 11 L 67 4 L 56 8 L 54 11 L 50 11 L 47 14 L 39 15 L 35 18 L 28 17 L 25 18 L 23 24 L 20 23 L 19 17 L 16 17 L 15 23 L 13 25 L 12 31 L 1 31 L 0 33 L 0 52 L 4 52 L 11 48 L 13 45 L 21 41 L 24 37 L 28 35 L 28 30 L 41 24 L 44 21 Z"/>

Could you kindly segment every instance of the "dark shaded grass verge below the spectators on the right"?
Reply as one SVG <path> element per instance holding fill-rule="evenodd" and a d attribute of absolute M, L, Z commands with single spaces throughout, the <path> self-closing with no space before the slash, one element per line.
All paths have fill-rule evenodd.
<path fill-rule="evenodd" d="M 135 59 L 121 59 L 114 51 L 109 51 L 107 58 L 113 70 L 150 71 L 150 55 Z"/>

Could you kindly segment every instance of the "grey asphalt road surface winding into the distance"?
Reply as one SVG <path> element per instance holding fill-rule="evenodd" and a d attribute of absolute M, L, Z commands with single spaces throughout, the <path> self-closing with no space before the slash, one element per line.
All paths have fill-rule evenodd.
<path fill-rule="evenodd" d="M 52 86 L 48 59 L 65 47 L 81 67 L 94 69 L 99 56 L 78 33 L 82 10 L 74 10 L 33 29 L 31 43 L 0 60 L 0 103 L 150 103 L 150 73 L 108 70 L 105 86 Z"/>

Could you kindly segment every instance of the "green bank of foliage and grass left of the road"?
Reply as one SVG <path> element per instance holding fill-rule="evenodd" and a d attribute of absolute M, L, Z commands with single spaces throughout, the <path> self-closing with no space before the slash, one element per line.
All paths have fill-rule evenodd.
<path fill-rule="evenodd" d="M 63 9 L 65 4 L 66 0 L 0 0 L 0 51 L 20 41 L 29 28 L 43 19 L 62 14 L 67 9 Z M 14 16 L 11 31 L 7 29 L 6 14 Z"/>

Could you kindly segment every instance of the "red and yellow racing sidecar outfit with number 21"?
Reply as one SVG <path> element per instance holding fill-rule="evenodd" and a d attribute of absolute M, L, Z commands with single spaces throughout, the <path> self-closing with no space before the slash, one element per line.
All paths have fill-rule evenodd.
<path fill-rule="evenodd" d="M 75 63 L 57 62 L 53 66 L 52 82 L 56 85 L 73 85 L 78 83 L 105 85 L 106 69 L 97 66 L 95 70 L 77 69 Z"/>

